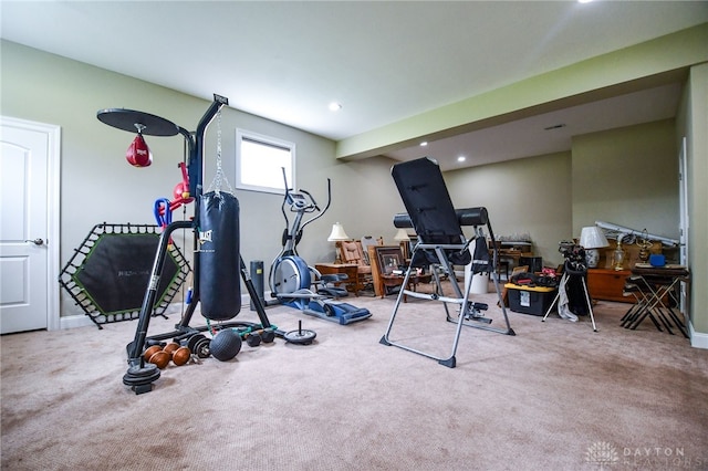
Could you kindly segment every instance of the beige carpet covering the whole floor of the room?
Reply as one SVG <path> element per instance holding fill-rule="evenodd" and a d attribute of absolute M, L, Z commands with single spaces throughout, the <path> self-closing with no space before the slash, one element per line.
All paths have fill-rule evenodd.
<path fill-rule="evenodd" d="M 500 326 L 496 295 L 478 299 Z M 143 395 L 122 383 L 136 322 L 3 336 L 2 469 L 708 469 L 708 352 L 648 322 L 620 327 L 625 304 L 595 306 L 597 333 L 586 317 L 509 312 L 517 336 L 465 328 L 450 369 L 378 343 L 393 296 L 347 301 L 373 317 L 269 308 L 315 343 L 170 365 Z M 393 337 L 448 354 L 444 320 L 441 304 L 409 300 Z"/>

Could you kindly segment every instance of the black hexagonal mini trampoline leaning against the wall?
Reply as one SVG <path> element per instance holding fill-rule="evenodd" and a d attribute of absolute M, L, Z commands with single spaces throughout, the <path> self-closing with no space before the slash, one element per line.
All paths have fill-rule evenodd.
<path fill-rule="evenodd" d="M 62 270 L 61 285 L 98 328 L 139 316 L 159 229 L 149 224 L 96 224 Z M 189 272 L 179 248 L 170 245 L 157 283 L 153 316 L 165 316 Z"/>

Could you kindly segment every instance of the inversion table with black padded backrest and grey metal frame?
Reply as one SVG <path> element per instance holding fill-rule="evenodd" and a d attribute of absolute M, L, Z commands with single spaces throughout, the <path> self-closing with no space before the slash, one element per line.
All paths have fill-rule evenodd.
<path fill-rule="evenodd" d="M 459 337 L 462 326 L 476 327 L 500 334 L 516 335 L 509 323 L 507 310 L 502 300 L 501 290 L 499 287 L 499 274 L 497 273 L 497 244 L 494 236 L 489 222 L 486 208 L 469 208 L 456 210 L 447 191 L 445 180 L 438 164 L 424 157 L 417 160 L 396 164 L 392 168 L 392 176 L 398 192 L 406 207 L 406 214 L 396 214 L 394 217 L 394 226 L 396 228 L 414 228 L 418 240 L 413 249 L 412 263 L 407 268 L 405 278 L 396 297 L 393 314 L 388 322 L 386 333 L 381 338 L 383 345 L 393 345 L 405 350 L 423 355 L 425 357 L 437 360 L 440 365 L 455 368 L 456 353 L 459 344 Z M 475 237 L 467 240 L 462 233 L 461 226 L 475 227 Z M 469 252 L 470 243 L 477 241 L 481 236 L 481 227 L 486 226 L 489 237 L 492 241 L 493 260 L 491 263 L 476 263 L 471 260 Z M 482 239 L 483 242 L 483 239 Z M 487 258 L 489 253 L 487 252 Z M 442 293 L 440 278 L 437 270 L 433 270 L 436 290 L 433 294 L 420 293 L 408 290 L 408 280 L 415 273 L 418 258 L 426 258 L 430 265 L 441 265 L 446 273 L 449 273 L 450 285 L 454 296 L 446 296 Z M 452 270 L 454 264 L 472 263 L 472 270 L 469 280 L 465 283 L 465 289 L 460 285 Z M 494 283 L 499 305 L 503 313 L 506 326 L 496 328 L 489 324 L 491 320 L 479 315 L 479 305 L 469 301 L 471 280 L 475 273 L 489 272 Z M 448 357 L 438 357 L 430 353 L 421 352 L 391 338 L 391 332 L 396 320 L 398 310 L 402 307 L 404 296 L 412 296 L 426 301 L 441 302 L 445 307 L 446 321 L 457 323 L 457 328 L 452 338 L 452 347 Z M 455 318 L 448 308 L 448 304 L 455 304 L 458 307 L 458 315 Z"/>

